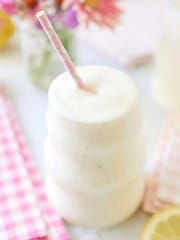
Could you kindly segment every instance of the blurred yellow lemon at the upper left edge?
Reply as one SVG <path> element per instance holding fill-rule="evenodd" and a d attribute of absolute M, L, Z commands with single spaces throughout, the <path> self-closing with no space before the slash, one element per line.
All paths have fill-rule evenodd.
<path fill-rule="evenodd" d="M 0 10 L 0 48 L 4 47 L 14 33 L 14 24 L 9 15 Z"/>

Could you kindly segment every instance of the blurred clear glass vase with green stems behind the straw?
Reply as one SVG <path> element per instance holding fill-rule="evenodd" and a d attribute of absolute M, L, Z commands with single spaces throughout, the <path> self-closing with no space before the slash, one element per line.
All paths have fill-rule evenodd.
<path fill-rule="evenodd" d="M 64 68 L 40 29 L 31 22 L 25 21 L 21 23 L 20 31 L 23 67 L 34 84 L 43 90 L 47 90 L 52 80 L 64 72 Z M 65 28 L 61 28 L 57 32 L 65 48 L 73 57 L 74 38 L 72 32 Z"/>

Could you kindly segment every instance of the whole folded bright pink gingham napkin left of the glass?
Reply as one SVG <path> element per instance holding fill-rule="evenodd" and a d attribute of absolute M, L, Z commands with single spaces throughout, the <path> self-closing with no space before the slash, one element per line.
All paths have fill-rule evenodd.
<path fill-rule="evenodd" d="M 69 240 L 0 89 L 0 240 Z"/>

